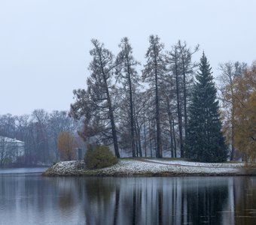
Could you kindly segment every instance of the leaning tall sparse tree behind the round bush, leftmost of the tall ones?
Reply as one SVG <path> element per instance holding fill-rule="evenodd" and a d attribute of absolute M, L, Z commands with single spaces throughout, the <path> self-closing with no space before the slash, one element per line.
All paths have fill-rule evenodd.
<path fill-rule="evenodd" d="M 70 115 L 79 119 L 84 117 L 84 132 L 81 136 L 96 136 L 102 134 L 102 142 L 113 143 L 114 154 L 120 157 L 117 128 L 114 117 L 114 55 L 105 49 L 99 40 L 92 40 L 94 48 L 90 50 L 93 56 L 90 62 L 90 77 L 87 79 L 87 90 L 74 90 L 75 104 L 71 105 Z"/>

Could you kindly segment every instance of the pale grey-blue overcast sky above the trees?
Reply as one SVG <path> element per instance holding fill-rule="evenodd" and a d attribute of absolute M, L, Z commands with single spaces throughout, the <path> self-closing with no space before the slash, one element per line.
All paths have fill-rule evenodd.
<path fill-rule="evenodd" d="M 90 40 L 114 54 L 129 37 L 145 63 L 150 34 L 166 49 L 200 44 L 215 75 L 218 64 L 256 59 L 254 0 L 0 0 L 0 114 L 69 110 L 73 89 L 84 88 Z"/>

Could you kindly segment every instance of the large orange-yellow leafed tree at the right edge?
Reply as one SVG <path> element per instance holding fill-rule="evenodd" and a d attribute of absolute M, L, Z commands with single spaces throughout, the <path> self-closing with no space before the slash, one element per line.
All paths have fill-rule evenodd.
<path fill-rule="evenodd" d="M 246 163 L 256 163 L 256 63 L 235 81 L 235 145 Z"/>

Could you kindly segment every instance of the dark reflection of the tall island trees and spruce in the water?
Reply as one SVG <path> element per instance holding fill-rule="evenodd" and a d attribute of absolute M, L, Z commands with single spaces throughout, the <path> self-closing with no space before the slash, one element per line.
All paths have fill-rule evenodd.
<path fill-rule="evenodd" d="M 85 178 L 86 224 L 221 224 L 227 178 Z"/>

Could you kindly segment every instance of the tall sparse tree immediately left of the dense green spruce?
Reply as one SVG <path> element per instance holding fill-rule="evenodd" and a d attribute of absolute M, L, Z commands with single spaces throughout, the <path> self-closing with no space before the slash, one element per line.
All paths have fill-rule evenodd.
<path fill-rule="evenodd" d="M 178 123 L 178 142 L 181 157 L 184 157 L 184 139 L 187 136 L 187 105 L 190 102 L 191 87 L 193 85 L 194 68 L 197 64 L 192 62 L 192 55 L 197 52 L 199 45 L 195 46 L 194 51 L 187 47 L 187 43 L 181 43 L 178 40 L 172 50 L 167 52 L 166 62 L 167 71 L 169 72 L 169 83 L 171 83 L 174 92 L 177 123 Z M 173 95 L 173 94 L 172 94 Z"/>

